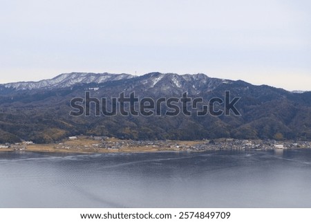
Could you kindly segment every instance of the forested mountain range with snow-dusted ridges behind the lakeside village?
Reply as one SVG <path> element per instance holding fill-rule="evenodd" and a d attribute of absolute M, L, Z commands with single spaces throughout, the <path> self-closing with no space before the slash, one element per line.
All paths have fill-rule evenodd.
<path fill-rule="evenodd" d="M 70 116 L 70 100 L 126 96 L 139 98 L 223 98 L 225 91 L 241 97 L 241 115 Z M 111 106 L 111 103 L 107 106 Z M 165 112 L 163 109 L 161 112 Z M 93 113 L 94 114 L 94 113 Z M 311 139 L 311 92 L 290 92 L 223 80 L 204 74 L 66 73 L 51 80 L 0 84 L 0 142 L 55 142 L 79 134 L 133 140 L 196 140 L 202 138 Z"/>

